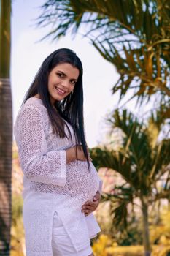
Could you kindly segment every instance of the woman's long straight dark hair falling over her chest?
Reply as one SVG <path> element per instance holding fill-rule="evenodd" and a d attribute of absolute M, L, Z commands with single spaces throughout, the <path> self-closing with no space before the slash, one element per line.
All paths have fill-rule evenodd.
<path fill-rule="evenodd" d="M 55 108 L 53 108 L 53 105 L 50 102 L 50 94 L 48 92 L 47 86 L 48 76 L 54 67 L 62 63 L 69 63 L 72 64 L 73 67 L 77 67 L 79 70 L 79 77 L 74 86 L 73 93 L 69 94 L 60 102 L 56 101 L 54 105 Z M 67 137 L 66 132 L 64 131 L 65 125 L 69 130 L 69 127 L 64 120 L 71 124 L 74 129 L 77 145 L 82 144 L 82 149 L 87 159 L 89 168 L 90 165 L 88 160 L 87 143 L 85 141 L 83 118 L 82 72 L 82 62 L 73 50 L 67 48 L 55 50 L 50 54 L 50 56 L 47 56 L 45 61 L 43 61 L 42 66 L 39 68 L 33 83 L 31 83 L 31 86 L 26 93 L 23 104 L 30 97 L 34 97 L 36 94 L 39 94 L 43 104 L 47 108 L 47 113 L 53 126 L 53 132 L 55 132 L 55 134 L 60 138 Z M 71 135 L 70 132 L 69 135 Z"/>

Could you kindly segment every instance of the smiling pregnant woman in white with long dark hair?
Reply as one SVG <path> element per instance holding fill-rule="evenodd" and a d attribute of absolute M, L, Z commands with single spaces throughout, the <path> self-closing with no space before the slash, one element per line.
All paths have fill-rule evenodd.
<path fill-rule="evenodd" d="M 45 59 L 26 94 L 14 134 L 23 176 L 27 256 L 93 255 L 90 238 L 101 181 L 83 124 L 82 63 L 69 49 Z"/>

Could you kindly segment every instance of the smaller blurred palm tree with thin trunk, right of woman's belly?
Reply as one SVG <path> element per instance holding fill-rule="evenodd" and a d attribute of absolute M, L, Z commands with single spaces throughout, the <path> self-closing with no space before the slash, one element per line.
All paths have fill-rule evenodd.
<path fill-rule="evenodd" d="M 160 113 L 157 116 L 152 114 L 144 123 L 127 110 L 122 113 L 115 110 L 109 121 L 113 131 L 118 128 L 122 132 L 121 146 L 116 150 L 93 148 L 93 163 L 96 167 L 117 171 L 125 180 L 123 186 L 113 188 L 114 195 L 105 195 L 105 200 L 118 204 L 113 209 L 115 222 L 126 219 L 128 204 L 133 204 L 138 198 L 142 209 L 145 255 L 150 255 L 148 209 L 157 200 L 170 198 L 170 139 L 159 139 L 163 127 Z M 165 174 L 164 186 L 160 187 L 158 181 Z"/>

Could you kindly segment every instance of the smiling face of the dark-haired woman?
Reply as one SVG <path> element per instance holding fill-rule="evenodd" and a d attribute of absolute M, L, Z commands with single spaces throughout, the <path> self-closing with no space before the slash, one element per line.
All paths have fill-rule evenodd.
<path fill-rule="evenodd" d="M 48 76 L 48 91 L 52 104 L 61 101 L 73 90 L 79 76 L 79 69 L 69 63 L 55 66 Z"/>

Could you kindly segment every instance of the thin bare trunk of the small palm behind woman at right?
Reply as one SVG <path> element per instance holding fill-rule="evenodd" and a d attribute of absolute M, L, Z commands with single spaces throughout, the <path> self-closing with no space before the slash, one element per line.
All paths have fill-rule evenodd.
<path fill-rule="evenodd" d="M 150 247 L 150 232 L 149 232 L 149 222 L 148 222 L 148 204 L 146 202 L 146 197 L 142 197 L 142 218 L 143 218 L 143 244 L 144 244 L 144 255 L 151 255 Z"/>

